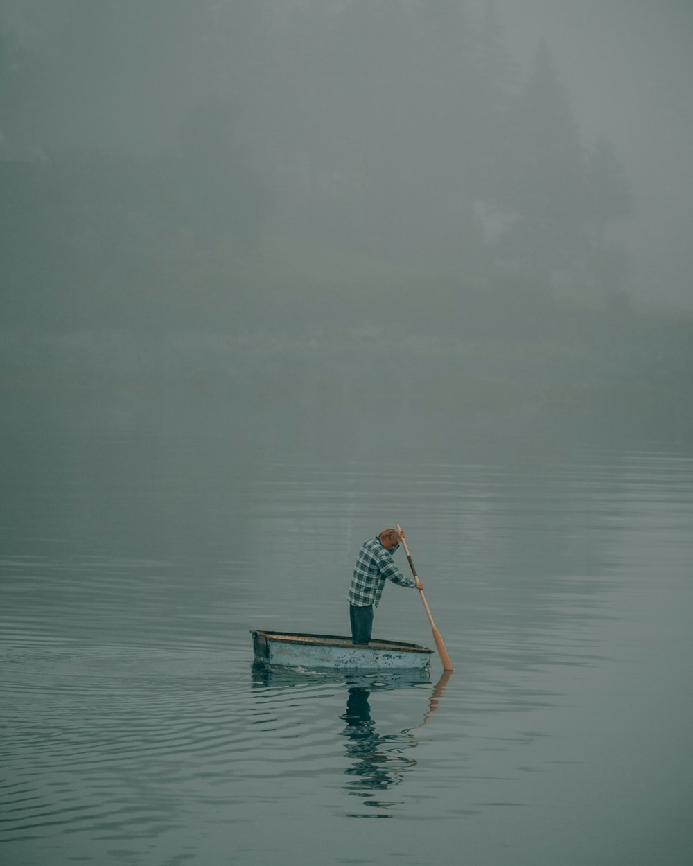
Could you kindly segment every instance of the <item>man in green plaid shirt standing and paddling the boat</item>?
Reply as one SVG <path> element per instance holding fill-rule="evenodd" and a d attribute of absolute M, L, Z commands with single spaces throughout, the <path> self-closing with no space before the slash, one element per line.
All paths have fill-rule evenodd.
<path fill-rule="evenodd" d="M 364 541 L 353 566 L 352 584 L 349 587 L 349 618 L 352 625 L 352 642 L 368 643 L 371 640 L 373 606 L 377 606 L 383 594 L 385 580 L 393 584 L 416 588 L 413 578 L 405 578 L 394 564 L 394 553 L 401 539 L 396 529 L 384 529 L 377 538 Z"/>

